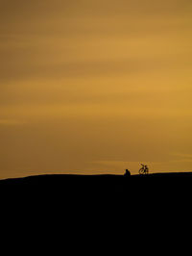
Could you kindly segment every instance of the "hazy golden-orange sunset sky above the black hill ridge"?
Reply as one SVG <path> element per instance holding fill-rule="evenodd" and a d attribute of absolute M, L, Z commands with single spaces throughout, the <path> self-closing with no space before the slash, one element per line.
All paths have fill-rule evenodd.
<path fill-rule="evenodd" d="M 191 0 L 0 0 L 0 178 L 192 171 Z"/>

